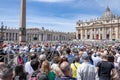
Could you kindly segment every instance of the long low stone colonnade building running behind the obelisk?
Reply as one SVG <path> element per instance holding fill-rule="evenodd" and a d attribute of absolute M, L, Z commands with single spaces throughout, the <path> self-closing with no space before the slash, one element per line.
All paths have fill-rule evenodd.
<path fill-rule="evenodd" d="M 5 27 L 3 35 L 3 39 L 6 42 L 19 42 L 19 29 L 10 29 Z M 39 28 L 26 29 L 27 42 L 68 41 L 73 38 L 75 39 L 74 33 L 50 31 Z"/>

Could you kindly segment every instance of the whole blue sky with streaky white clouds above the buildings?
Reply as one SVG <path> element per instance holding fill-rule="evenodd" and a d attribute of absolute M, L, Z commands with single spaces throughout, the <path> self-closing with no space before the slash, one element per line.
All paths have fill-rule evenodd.
<path fill-rule="evenodd" d="M 20 1 L 0 0 L 0 23 L 20 27 Z M 120 0 L 26 0 L 26 28 L 75 32 L 78 20 L 100 17 L 107 6 L 120 16 Z"/>

